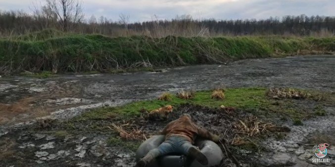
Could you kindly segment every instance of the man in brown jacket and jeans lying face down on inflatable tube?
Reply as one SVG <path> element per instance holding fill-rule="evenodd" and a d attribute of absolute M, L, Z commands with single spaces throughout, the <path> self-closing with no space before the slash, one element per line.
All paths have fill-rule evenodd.
<path fill-rule="evenodd" d="M 158 156 L 169 153 L 184 154 L 198 161 L 202 165 L 207 165 L 208 160 L 200 150 L 193 146 L 196 136 L 204 139 L 210 139 L 214 142 L 220 140 L 218 135 L 211 134 L 203 128 L 199 128 L 191 121 L 189 114 L 183 114 L 179 119 L 170 122 L 162 134 L 165 135 L 165 141 L 158 148 L 150 150 L 135 167 L 145 167 L 149 162 Z"/>

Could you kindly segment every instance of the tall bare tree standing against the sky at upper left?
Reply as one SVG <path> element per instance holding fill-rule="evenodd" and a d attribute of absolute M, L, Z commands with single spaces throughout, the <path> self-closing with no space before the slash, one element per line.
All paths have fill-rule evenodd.
<path fill-rule="evenodd" d="M 64 32 L 71 28 L 75 29 L 76 25 L 84 19 L 83 5 L 80 0 L 45 0 L 45 2 L 45 7 L 57 15 L 57 21 Z"/>

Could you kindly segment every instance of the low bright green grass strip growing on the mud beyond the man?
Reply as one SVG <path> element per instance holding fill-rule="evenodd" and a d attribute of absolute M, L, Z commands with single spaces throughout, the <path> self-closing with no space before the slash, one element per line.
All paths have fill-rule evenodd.
<path fill-rule="evenodd" d="M 266 91 L 266 88 L 227 89 L 225 92 L 226 98 L 223 100 L 211 99 L 211 91 L 200 91 L 195 92 L 195 97 L 189 100 L 172 96 L 171 101 L 143 100 L 118 107 L 100 107 L 93 109 L 90 112 L 85 112 L 82 115 L 77 116 L 75 119 L 78 121 L 86 121 L 110 120 L 116 117 L 132 118 L 140 116 L 140 110 L 143 108 L 150 111 L 168 104 L 178 106 L 183 103 L 192 103 L 208 107 L 220 107 L 221 105 L 233 106 L 267 119 L 303 119 L 315 115 L 313 109 L 309 110 L 309 108 L 302 108 L 299 105 L 295 105 L 294 101 L 298 102 L 299 100 L 270 99 L 265 95 Z M 307 100 L 314 101 L 312 99 Z"/>

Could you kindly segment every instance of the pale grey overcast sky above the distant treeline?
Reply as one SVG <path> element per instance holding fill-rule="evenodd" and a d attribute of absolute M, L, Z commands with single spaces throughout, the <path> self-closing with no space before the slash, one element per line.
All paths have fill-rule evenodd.
<path fill-rule="evenodd" d="M 0 10 L 30 11 L 43 0 L 0 0 Z M 335 0 L 83 0 L 86 18 L 105 16 L 117 21 L 120 14 L 130 21 L 172 19 L 190 14 L 195 19 L 263 19 L 285 15 L 335 16 Z"/>

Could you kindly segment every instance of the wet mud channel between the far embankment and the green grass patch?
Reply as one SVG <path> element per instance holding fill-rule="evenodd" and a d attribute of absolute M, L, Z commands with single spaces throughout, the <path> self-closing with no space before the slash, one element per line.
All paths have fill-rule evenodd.
<path fill-rule="evenodd" d="M 242 60 L 162 72 L 78 74 L 46 79 L 2 76 L 0 124 L 23 122 L 53 112 L 54 118 L 68 118 L 87 108 L 152 99 L 165 91 L 208 90 L 222 84 L 334 91 L 334 73 L 335 56 L 315 55 Z"/>

